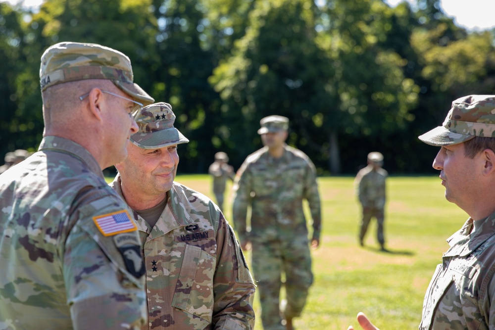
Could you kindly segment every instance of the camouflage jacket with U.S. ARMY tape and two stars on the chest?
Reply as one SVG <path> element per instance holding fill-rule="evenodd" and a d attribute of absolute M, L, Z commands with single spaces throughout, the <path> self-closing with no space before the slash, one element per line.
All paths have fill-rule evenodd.
<path fill-rule="evenodd" d="M 120 195 L 120 177 L 110 184 Z M 153 228 L 134 213 L 147 271 L 149 328 L 252 329 L 254 284 L 218 207 L 174 182 Z"/>

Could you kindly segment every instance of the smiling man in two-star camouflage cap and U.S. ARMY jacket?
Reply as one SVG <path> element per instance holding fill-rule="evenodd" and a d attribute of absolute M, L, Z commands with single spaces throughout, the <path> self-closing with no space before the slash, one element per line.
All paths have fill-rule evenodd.
<path fill-rule="evenodd" d="M 137 116 L 112 188 L 134 209 L 146 265 L 148 326 L 252 329 L 254 283 L 232 227 L 203 194 L 174 182 L 186 139 L 167 103 Z"/>

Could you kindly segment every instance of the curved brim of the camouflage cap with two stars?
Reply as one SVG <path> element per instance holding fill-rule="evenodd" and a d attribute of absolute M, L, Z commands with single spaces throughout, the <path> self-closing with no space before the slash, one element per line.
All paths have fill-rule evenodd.
<path fill-rule="evenodd" d="M 187 143 L 189 140 L 176 128 L 151 132 L 136 133 L 131 136 L 131 142 L 140 148 L 156 149 L 174 144 Z"/>

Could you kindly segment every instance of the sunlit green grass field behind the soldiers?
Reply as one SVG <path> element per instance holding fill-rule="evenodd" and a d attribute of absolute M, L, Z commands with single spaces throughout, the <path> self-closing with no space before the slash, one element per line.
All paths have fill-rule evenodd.
<path fill-rule="evenodd" d="M 179 175 L 176 181 L 213 197 L 207 175 Z M 466 213 L 445 200 L 438 177 L 391 177 L 385 218 L 390 252 L 382 252 L 375 238 L 375 223 L 370 226 L 366 246 L 357 243 L 360 210 L 353 178 L 325 177 L 318 182 L 323 212 L 321 245 L 313 251 L 315 282 L 295 327 L 347 330 L 352 324 L 358 328 L 355 316 L 362 311 L 381 330 L 417 329 L 424 293 L 448 248 L 446 238 L 462 226 Z M 227 191 L 230 188 L 229 184 Z M 231 201 L 226 193 L 229 221 Z M 246 256 L 250 260 L 249 253 Z M 257 298 L 254 308 L 259 315 Z M 259 317 L 255 329 L 262 329 Z"/>

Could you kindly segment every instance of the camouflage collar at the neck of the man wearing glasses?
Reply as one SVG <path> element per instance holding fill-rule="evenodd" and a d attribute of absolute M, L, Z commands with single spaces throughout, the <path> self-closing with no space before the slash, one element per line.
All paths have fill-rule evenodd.
<path fill-rule="evenodd" d="M 101 172 L 101 168 L 95 157 L 85 147 L 74 141 L 55 136 L 47 136 L 41 141 L 38 151 L 56 151 L 69 154 L 80 159 L 89 167 L 91 172 L 104 179 L 103 172 Z"/>

